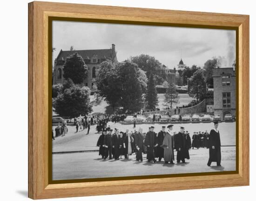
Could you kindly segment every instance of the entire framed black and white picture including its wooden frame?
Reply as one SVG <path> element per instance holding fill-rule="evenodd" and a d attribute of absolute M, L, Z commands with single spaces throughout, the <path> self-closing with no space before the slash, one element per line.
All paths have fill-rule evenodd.
<path fill-rule="evenodd" d="M 28 4 L 28 196 L 249 185 L 249 16 Z"/>

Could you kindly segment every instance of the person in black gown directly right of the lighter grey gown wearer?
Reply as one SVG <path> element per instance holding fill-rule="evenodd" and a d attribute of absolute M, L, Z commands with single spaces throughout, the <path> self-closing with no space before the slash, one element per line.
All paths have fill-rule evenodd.
<path fill-rule="evenodd" d="M 186 138 L 184 134 L 184 127 L 181 127 L 181 130 L 178 134 L 175 135 L 175 149 L 177 150 L 177 163 L 181 161 L 185 163 L 186 153 Z"/>

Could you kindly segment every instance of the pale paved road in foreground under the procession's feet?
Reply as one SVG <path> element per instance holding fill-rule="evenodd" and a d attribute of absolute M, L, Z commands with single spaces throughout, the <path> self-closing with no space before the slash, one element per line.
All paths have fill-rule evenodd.
<path fill-rule="evenodd" d="M 186 164 L 171 165 L 164 162 L 148 163 L 145 154 L 143 162 L 137 162 L 134 154 L 130 160 L 119 161 L 102 160 L 97 152 L 54 154 L 53 180 L 236 170 L 236 147 L 222 147 L 222 167 L 216 167 L 216 162 L 208 167 L 208 156 L 209 149 L 191 149 L 190 160 Z"/>

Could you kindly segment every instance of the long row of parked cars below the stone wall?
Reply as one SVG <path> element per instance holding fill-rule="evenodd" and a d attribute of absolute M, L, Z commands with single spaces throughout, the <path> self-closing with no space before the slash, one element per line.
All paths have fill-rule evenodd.
<path fill-rule="evenodd" d="M 124 122 L 133 122 L 134 120 L 136 120 L 136 122 L 150 122 L 154 120 L 154 115 L 149 115 L 148 117 L 145 117 L 143 115 L 134 117 L 134 116 L 127 116 L 124 119 Z M 165 121 L 221 121 L 222 118 L 220 117 L 220 115 L 208 115 L 205 114 L 202 117 L 200 117 L 198 114 L 194 114 L 194 115 L 182 115 L 180 117 L 180 115 L 172 115 L 171 117 L 169 117 L 168 115 L 160 115 L 160 114 L 155 114 L 155 121 L 160 121 L 160 122 L 165 122 Z M 235 120 L 235 117 L 232 117 L 231 114 L 226 114 L 224 116 L 224 121 L 233 121 Z"/>

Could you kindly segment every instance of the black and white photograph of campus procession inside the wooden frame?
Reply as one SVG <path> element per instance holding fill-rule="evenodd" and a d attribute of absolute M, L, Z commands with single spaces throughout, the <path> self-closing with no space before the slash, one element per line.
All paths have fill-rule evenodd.
<path fill-rule="evenodd" d="M 236 30 L 52 23 L 53 181 L 236 171 Z"/>

